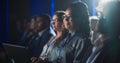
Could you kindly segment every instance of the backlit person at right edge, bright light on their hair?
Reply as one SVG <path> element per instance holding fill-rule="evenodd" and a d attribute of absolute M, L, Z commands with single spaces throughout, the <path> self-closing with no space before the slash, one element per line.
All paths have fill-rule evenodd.
<path fill-rule="evenodd" d="M 86 63 L 120 63 L 120 1 L 110 0 L 101 4 L 97 7 L 101 13 L 97 26 L 101 45 L 94 46 Z"/>

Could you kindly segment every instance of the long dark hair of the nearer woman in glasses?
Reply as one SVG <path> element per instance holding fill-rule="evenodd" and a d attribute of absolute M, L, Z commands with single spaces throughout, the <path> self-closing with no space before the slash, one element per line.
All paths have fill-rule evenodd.
<path fill-rule="evenodd" d="M 87 5 L 83 2 L 75 2 L 68 7 L 71 10 L 72 22 L 80 34 L 89 37 L 89 13 Z"/>

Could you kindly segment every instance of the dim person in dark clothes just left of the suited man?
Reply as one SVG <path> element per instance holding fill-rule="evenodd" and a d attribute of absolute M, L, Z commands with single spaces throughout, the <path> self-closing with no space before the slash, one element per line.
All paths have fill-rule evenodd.
<path fill-rule="evenodd" d="M 30 40 L 33 39 L 36 32 L 36 16 L 31 17 L 27 20 L 27 23 L 24 25 L 24 31 L 23 34 L 19 40 L 18 45 L 22 45 L 27 47 L 30 43 Z"/>

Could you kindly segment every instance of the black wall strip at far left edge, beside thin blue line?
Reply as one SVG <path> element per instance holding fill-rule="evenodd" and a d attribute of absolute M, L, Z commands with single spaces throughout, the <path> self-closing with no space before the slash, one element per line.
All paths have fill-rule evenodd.
<path fill-rule="evenodd" d="M 0 0 L 0 45 L 6 40 L 6 1 Z"/>

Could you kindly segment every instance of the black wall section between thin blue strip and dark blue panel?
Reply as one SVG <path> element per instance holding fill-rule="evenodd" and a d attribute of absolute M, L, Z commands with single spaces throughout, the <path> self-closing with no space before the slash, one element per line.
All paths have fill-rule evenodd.
<path fill-rule="evenodd" d="M 18 39 L 16 21 L 29 16 L 29 0 L 9 0 L 9 42 L 15 43 Z"/>

